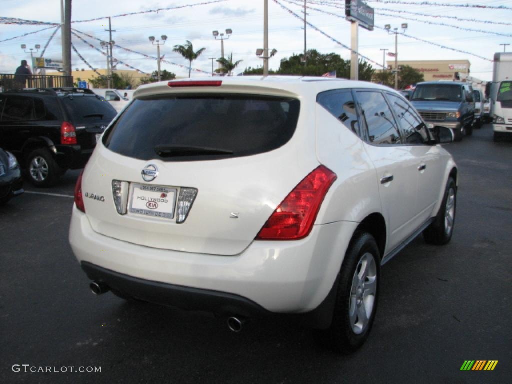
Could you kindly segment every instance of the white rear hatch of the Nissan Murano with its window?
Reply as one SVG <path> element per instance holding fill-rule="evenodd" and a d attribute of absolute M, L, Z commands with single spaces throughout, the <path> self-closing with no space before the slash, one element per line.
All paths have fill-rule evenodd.
<path fill-rule="evenodd" d="M 82 183 L 96 232 L 239 254 L 318 166 L 314 110 L 297 95 L 199 90 L 140 96 L 105 133 Z"/>

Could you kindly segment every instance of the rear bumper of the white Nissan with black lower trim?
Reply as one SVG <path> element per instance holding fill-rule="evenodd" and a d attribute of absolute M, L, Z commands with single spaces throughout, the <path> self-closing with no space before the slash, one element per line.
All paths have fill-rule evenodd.
<path fill-rule="evenodd" d="M 146 301 L 161 302 L 155 287 L 163 284 L 170 287 L 168 291 L 180 287 L 180 293 L 164 295 L 160 304 L 226 312 L 238 303 L 235 307 L 242 314 L 300 314 L 314 311 L 326 301 L 356 227 L 357 223 L 349 222 L 317 225 L 307 239 L 253 242 L 239 255 L 220 256 L 143 247 L 102 236 L 74 207 L 70 243 L 91 279 L 104 279 L 107 285 L 118 285 L 119 290 L 124 288 Z M 88 265 L 95 267 L 87 270 Z M 103 270 L 114 274 L 105 277 Z M 149 283 L 132 284 L 131 279 Z M 155 292 L 150 294 L 151 290 Z M 212 303 L 218 302 L 219 296 L 229 300 L 212 308 L 209 300 L 186 300 L 184 290 L 206 292 L 206 296 L 216 297 Z"/>

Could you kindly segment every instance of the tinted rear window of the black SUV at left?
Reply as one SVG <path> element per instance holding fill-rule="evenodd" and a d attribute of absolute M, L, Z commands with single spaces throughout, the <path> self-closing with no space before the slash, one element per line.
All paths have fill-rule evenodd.
<path fill-rule="evenodd" d="M 96 96 L 73 95 L 61 98 L 73 122 L 111 121 L 117 114 L 108 101 Z"/>

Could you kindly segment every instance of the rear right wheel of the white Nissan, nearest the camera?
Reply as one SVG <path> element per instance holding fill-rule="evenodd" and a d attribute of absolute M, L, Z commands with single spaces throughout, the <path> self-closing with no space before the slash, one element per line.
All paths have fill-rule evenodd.
<path fill-rule="evenodd" d="M 377 311 L 380 253 L 369 233 L 356 234 L 340 272 L 336 307 L 328 333 L 331 346 L 352 352 L 368 338 Z"/>

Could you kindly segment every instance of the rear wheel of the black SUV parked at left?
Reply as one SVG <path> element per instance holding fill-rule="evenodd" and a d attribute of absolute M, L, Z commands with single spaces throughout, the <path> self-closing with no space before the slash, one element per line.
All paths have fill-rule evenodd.
<path fill-rule="evenodd" d="M 40 148 L 30 153 L 27 158 L 27 172 L 29 180 L 36 187 L 48 187 L 54 185 L 62 169 L 54 160 L 50 151 Z"/>

